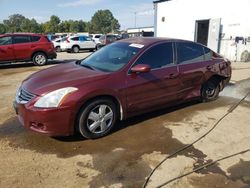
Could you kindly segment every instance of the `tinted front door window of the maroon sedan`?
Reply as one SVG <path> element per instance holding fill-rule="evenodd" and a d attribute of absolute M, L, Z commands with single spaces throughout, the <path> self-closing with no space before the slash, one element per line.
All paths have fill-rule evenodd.
<path fill-rule="evenodd" d="M 148 64 L 151 69 L 160 68 L 173 63 L 173 43 L 164 43 L 147 50 L 133 65 Z"/>

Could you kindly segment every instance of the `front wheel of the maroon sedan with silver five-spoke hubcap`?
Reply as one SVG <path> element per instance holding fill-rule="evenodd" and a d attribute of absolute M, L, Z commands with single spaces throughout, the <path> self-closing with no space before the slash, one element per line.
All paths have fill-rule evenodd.
<path fill-rule="evenodd" d="M 112 100 L 97 99 L 81 109 L 76 130 L 85 138 L 100 138 L 110 133 L 117 117 L 117 108 Z"/>

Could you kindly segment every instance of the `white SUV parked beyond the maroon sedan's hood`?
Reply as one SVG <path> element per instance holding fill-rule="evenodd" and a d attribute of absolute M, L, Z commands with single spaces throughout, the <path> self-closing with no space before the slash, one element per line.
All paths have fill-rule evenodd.
<path fill-rule="evenodd" d="M 94 51 L 96 49 L 96 43 L 87 36 L 70 36 L 62 40 L 62 51 L 78 53 L 80 50 Z"/>

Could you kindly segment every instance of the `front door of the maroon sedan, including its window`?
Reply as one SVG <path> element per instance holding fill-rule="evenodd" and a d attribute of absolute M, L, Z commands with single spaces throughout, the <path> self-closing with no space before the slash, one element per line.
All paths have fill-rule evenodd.
<path fill-rule="evenodd" d="M 141 74 L 129 72 L 127 75 L 128 113 L 149 111 L 178 100 L 180 80 L 173 54 L 172 42 L 158 44 L 134 63 L 133 66 L 148 64 L 151 71 Z"/>

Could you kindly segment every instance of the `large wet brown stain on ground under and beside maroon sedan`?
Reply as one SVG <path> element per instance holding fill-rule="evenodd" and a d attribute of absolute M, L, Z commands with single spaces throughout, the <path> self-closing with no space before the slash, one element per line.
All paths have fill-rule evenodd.
<path fill-rule="evenodd" d="M 124 187 L 140 187 L 149 174 L 149 166 L 141 160 L 144 154 L 154 151 L 171 154 L 184 147 L 164 126 L 166 122 L 191 120 L 196 111 L 206 111 L 227 106 L 236 100 L 221 97 L 212 103 L 190 102 L 120 122 L 112 134 L 97 140 L 85 140 L 80 136 L 51 138 L 25 130 L 17 118 L 0 125 L 0 138 L 8 141 L 13 148 L 23 148 L 39 153 L 56 154 L 60 158 L 90 154 L 93 168 L 100 172 L 90 183 L 91 187 L 122 183 Z M 120 149 L 117 149 L 120 148 Z M 206 156 L 191 148 L 187 157 L 201 159 Z M 78 161 L 79 168 L 83 161 Z M 86 174 L 76 173 L 85 178 Z"/>

